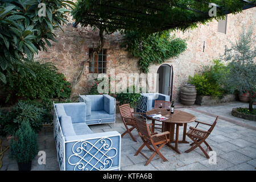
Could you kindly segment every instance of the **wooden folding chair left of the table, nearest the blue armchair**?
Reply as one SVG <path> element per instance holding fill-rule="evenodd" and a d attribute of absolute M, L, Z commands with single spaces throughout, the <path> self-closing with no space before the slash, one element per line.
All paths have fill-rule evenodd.
<path fill-rule="evenodd" d="M 125 134 L 128 133 L 131 136 L 131 139 L 133 139 L 134 142 L 137 142 L 137 140 L 133 137 L 133 134 L 131 134 L 131 131 L 136 128 L 135 121 L 134 121 L 134 114 L 144 114 L 144 113 L 131 112 L 130 104 L 123 104 L 119 106 L 119 110 L 120 110 L 123 124 L 125 125 L 125 128 L 126 128 L 126 131 L 121 135 L 121 137 L 123 137 Z M 132 126 L 132 127 L 129 129 L 128 126 Z"/>

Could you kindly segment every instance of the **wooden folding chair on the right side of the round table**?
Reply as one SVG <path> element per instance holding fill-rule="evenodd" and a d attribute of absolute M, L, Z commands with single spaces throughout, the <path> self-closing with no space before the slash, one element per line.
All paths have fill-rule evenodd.
<path fill-rule="evenodd" d="M 210 135 L 210 133 L 212 133 L 212 130 L 214 129 L 216 123 L 218 120 L 218 116 L 216 117 L 215 121 L 213 122 L 212 125 L 208 124 L 208 123 L 204 123 L 201 121 L 195 121 L 197 122 L 197 125 L 199 125 L 199 123 L 203 124 L 203 125 L 208 125 L 210 126 L 209 130 L 205 131 L 205 130 L 200 130 L 197 129 L 197 125 L 196 127 L 189 127 L 189 131 L 187 132 L 187 136 L 193 140 L 193 143 L 191 143 L 190 145 L 192 146 L 191 148 L 189 148 L 189 150 L 185 151 L 186 153 L 191 152 L 192 150 L 194 150 L 196 147 L 199 147 L 201 149 L 201 151 L 204 152 L 204 155 L 207 157 L 207 159 L 209 159 L 209 155 L 207 154 L 207 151 L 210 150 L 212 151 L 212 148 L 209 146 L 209 144 L 205 141 L 205 139 L 208 138 L 208 136 Z M 201 147 L 201 144 L 204 143 L 207 146 L 207 149 L 204 150 L 203 147 Z"/>

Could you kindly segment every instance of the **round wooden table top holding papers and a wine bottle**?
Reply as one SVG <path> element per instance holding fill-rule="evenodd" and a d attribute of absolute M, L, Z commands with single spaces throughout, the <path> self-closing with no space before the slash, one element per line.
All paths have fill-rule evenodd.
<path fill-rule="evenodd" d="M 168 114 L 169 117 L 168 119 L 165 119 L 165 120 L 158 120 L 154 118 L 156 121 L 169 122 L 169 123 L 190 123 L 190 122 L 196 121 L 195 115 L 187 113 L 185 111 L 181 111 L 181 110 L 174 110 L 174 114 L 171 114 L 170 111 L 168 112 L 166 109 L 151 109 L 146 112 L 146 115 L 159 114 L 160 110 L 161 110 L 161 115 L 163 115 L 164 117 L 167 117 L 166 115 Z M 151 117 L 147 117 L 147 118 L 152 119 Z"/>

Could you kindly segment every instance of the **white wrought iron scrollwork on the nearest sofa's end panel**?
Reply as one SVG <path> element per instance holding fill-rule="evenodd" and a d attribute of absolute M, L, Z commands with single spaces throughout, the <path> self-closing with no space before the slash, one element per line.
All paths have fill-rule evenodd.
<path fill-rule="evenodd" d="M 108 170 L 113 165 L 112 159 L 118 154 L 118 149 L 113 148 L 112 143 L 110 138 L 100 138 L 94 143 L 87 140 L 76 142 L 68 163 L 74 166 L 74 171 Z"/>

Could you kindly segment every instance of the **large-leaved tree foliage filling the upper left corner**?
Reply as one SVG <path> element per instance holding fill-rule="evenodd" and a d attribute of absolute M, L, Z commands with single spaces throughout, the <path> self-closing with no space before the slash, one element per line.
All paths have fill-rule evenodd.
<path fill-rule="evenodd" d="M 14 86 L 13 75 L 25 77 L 33 72 L 23 65 L 38 50 L 47 51 L 49 40 L 56 41 L 53 30 L 65 23 L 70 1 L 43 1 L 46 16 L 39 16 L 39 0 L 0 1 L 0 80 Z M 73 4 L 73 3 L 72 3 Z"/>

